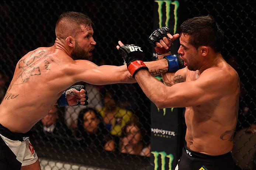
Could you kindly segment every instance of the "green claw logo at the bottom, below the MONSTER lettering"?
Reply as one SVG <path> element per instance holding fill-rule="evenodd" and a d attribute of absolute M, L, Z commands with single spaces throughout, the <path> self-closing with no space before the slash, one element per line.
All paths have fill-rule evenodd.
<path fill-rule="evenodd" d="M 160 155 L 160 159 L 161 159 L 161 170 L 165 170 L 165 160 L 168 159 L 168 167 L 169 167 L 169 170 L 172 169 L 172 162 L 173 162 L 173 155 L 172 154 L 169 154 L 167 155 L 166 152 L 156 152 L 156 151 L 152 151 L 151 152 L 153 155 L 154 155 L 154 164 L 155 164 L 155 168 L 154 170 L 157 170 L 158 169 L 158 157 Z"/>

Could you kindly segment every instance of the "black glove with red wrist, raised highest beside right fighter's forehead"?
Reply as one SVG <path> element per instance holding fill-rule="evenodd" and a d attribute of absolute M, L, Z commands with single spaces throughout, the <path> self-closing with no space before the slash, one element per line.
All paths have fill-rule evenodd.
<path fill-rule="evenodd" d="M 163 39 L 163 37 L 168 38 L 167 33 L 170 33 L 170 29 L 168 26 L 164 26 L 161 28 L 158 28 L 156 31 L 154 31 L 150 36 L 149 36 L 149 43 L 155 48 L 157 54 L 165 54 L 170 51 L 170 49 L 165 49 L 164 47 L 156 47 L 156 42 L 159 42 L 160 39 Z"/>

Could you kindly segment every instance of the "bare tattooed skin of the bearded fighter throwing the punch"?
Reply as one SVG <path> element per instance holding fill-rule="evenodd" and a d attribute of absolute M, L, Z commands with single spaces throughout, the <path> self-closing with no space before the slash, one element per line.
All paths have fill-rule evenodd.
<path fill-rule="evenodd" d="M 92 35 L 93 29 L 81 25 L 76 40 L 67 38 L 66 44 L 56 38 L 53 46 L 39 47 L 23 56 L 16 65 L 13 79 L 0 105 L 0 124 L 12 132 L 28 132 L 48 114 L 62 92 L 76 82 L 95 85 L 136 82 L 126 65 L 97 66 L 88 60 L 72 59 L 71 53 L 76 43 L 87 51 L 89 57 L 92 56 L 91 50 L 96 45 Z M 147 65 L 152 75 L 167 70 L 165 60 Z"/>

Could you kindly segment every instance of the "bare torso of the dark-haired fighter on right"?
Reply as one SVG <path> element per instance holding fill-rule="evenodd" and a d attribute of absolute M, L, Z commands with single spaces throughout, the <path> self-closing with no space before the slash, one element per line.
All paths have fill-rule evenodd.
<path fill-rule="evenodd" d="M 239 78 L 236 71 L 226 62 L 217 65 L 217 69 L 225 70 L 232 76 L 233 82 L 236 82 L 230 84 L 233 93 L 198 106 L 186 107 L 185 112 L 187 147 L 213 156 L 225 154 L 233 147 L 239 102 Z M 186 82 L 198 77 L 198 70 L 187 69 Z"/>

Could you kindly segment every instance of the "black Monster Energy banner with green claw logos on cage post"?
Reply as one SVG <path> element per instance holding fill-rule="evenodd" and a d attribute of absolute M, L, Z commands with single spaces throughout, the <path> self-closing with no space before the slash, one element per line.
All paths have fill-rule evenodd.
<path fill-rule="evenodd" d="M 178 1 L 154 1 L 154 30 L 168 26 L 172 34 L 178 25 Z M 172 51 L 178 46 L 173 45 Z M 162 81 L 162 77 L 157 77 Z M 159 96 L 161 98 L 161 96 Z M 180 121 L 178 108 L 158 109 L 151 103 L 151 169 L 174 170 L 179 160 Z"/>

